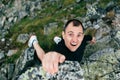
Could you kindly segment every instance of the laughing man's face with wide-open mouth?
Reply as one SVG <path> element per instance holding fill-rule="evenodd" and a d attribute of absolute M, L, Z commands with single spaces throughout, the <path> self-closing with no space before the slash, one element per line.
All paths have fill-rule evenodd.
<path fill-rule="evenodd" d="M 74 52 L 81 45 L 81 42 L 84 38 L 82 26 L 73 26 L 71 22 L 65 31 L 62 32 L 63 39 L 65 41 L 66 47 Z"/>

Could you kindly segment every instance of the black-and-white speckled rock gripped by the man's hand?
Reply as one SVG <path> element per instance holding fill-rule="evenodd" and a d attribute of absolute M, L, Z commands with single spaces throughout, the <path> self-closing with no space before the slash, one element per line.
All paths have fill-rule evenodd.
<path fill-rule="evenodd" d="M 83 70 L 78 62 L 65 61 L 60 64 L 58 73 L 46 73 L 41 66 L 32 67 L 20 75 L 18 80 L 84 80 Z"/>

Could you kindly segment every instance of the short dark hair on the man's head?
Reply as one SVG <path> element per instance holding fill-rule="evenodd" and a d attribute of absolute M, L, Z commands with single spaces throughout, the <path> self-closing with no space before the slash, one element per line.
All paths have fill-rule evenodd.
<path fill-rule="evenodd" d="M 65 29 L 67 28 L 67 26 L 68 26 L 71 22 L 73 23 L 73 26 L 76 26 L 76 27 L 79 26 L 79 25 L 81 25 L 81 26 L 82 26 L 82 29 L 84 30 L 84 27 L 83 27 L 81 21 L 79 21 L 79 20 L 77 20 L 77 19 L 71 19 L 71 20 L 68 20 L 67 23 L 65 24 L 65 26 L 64 26 L 64 28 L 63 28 L 64 31 L 65 31 Z"/>

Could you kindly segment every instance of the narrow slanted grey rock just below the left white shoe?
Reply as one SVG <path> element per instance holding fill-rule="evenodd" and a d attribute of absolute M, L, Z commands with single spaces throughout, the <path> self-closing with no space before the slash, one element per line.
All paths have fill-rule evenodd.
<path fill-rule="evenodd" d="M 18 59 L 15 65 L 15 71 L 13 75 L 13 80 L 15 80 L 26 68 L 29 67 L 31 61 L 34 59 L 34 49 L 27 48 L 23 51 L 22 55 Z"/>

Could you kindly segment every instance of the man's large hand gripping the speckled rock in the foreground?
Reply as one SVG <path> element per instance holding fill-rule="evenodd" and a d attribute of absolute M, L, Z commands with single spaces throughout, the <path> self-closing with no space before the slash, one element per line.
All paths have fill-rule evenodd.
<path fill-rule="evenodd" d="M 42 59 L 43 69 L 51 74 L 58 72 L 58 64 L 65 61 L 65 56 L 57 52 L 48 52 Z"/>

